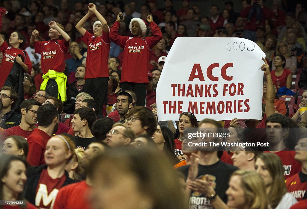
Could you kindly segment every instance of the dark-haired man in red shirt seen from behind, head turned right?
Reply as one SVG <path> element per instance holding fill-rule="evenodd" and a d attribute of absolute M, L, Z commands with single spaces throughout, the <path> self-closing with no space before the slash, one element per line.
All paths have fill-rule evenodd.
<path fill-rule="evenodd" d="M 38 128 L 29 135 L 29 154 L 27 161 L 31 166 L 45 163 L 46 144 L 59 126 L 59 116 L 55 105 L 42 105 L 37 109 Z"/>

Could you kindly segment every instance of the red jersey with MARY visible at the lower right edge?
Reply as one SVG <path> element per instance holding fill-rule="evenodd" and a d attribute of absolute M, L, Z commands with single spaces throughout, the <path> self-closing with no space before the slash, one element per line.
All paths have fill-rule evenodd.
<path fill-rule="evenodd" d="M 287 178 L 286 187 L 297 201 L 301 201 L 307 190 L 307 175 L 300 172 Z"/>

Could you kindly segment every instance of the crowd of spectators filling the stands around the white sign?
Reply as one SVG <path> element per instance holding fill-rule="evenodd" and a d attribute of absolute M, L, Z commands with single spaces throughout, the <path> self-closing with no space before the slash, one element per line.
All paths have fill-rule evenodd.
<path fill-rule="evenodd" d="M 204 5 L 210 14 L 190 0 L 177 11 L 172 0 L 139 11 L 136 1 L 2 2 L 0 200 L 15 205 L 4 208 L 307 208 L 306 2 L 241 2 L 240 13 L 231 1 Z M 159 78 L 185 36 L 258 44 L 262 120 L 158 122 Z M 266 128 L 271 149 L 189 151 L 192 127 L 225 127 L 226 143 Z"/>

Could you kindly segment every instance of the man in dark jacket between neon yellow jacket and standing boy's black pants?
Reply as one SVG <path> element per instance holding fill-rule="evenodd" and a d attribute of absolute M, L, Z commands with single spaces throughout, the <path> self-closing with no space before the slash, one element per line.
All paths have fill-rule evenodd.
<path fill-rule="evenodd" d="M 85 84 L 84 76 L 85 76 L 85 66 L 79 65 L 76 69 L 76 74 L 75 74 L 76 81 L 72 82 L 68 86 L 68 93 L 67 93 L 68 97 L 75 98 L 78 95 L 78 93 L 84 91 L 83 89 Z"/>

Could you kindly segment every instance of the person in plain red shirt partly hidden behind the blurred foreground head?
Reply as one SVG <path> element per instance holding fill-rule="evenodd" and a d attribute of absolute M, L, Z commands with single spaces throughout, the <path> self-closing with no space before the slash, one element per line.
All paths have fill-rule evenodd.
<path fill-rule="evenodd" d="M 92 142 L 88 145 L 87 149 L 84 153 L 84 158 L 82 159 L 81 166 L 85 169 L 89 168 L 89 162 L 98 154 L 101 154 L 106 150 L 108 146 L 101 142 Z M 82 208 L 88 209 L 90 207 L 90 201 L 87 199 L 87 194 L 91 189 L 91 179 L 89 175 L 87 175 L 84 181 L 80 181 L 74 184 L 69 184 L 63 188 L 61 188 L 56 196 L 56 200 L 53 205 L 53 209 L 60 208 Z"/>

